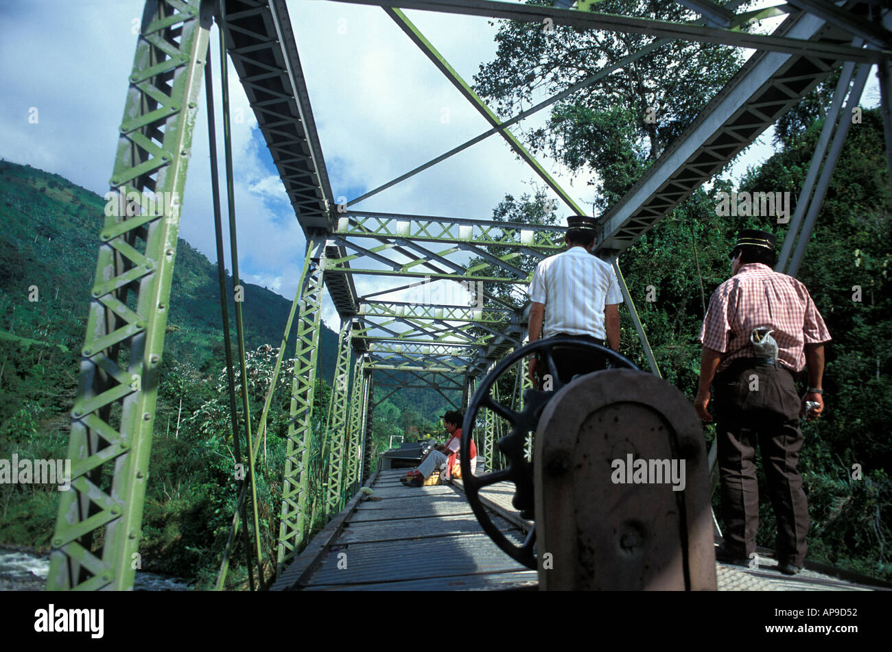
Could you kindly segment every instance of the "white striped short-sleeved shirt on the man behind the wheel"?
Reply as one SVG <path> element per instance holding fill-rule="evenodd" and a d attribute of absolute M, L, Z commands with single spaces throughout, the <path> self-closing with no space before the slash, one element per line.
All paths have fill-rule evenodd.
<path fill-rule="evenodd" d="M 530 300 L 545 304 L 543 337 L 567 333 L 604 339 L 604 306 L 623 303 L 623 295 L 609 263 L 583 247 L 571 247 L 536 265 Z"/>

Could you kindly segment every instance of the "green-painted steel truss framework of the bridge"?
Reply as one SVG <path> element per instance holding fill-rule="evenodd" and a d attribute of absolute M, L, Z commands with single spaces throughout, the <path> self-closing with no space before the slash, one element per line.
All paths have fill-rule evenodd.
<path fill-rule="evenodd" d="M 301 11 L 311 11 L 303 0 Z M 285 0 L 149 0 L 145 4 L 128 78 L 124 117 L 110 186 L 136 193 L 138 204 L 161 193 L 182 196 L 192 154 L 194 123 L 202 103 L 202 78 L 209 117 L 211 175 L 220 281 L 223 282 L 221 200 L 217 188 L 216 124 L 209 38 L 216 22 L 220 35 L 219 81 L 223 87 L 222 129 L 234 284 L 240 283 L 235 242 L 233 160 L 229 138 L 227 56 L 251 102 L 294 215 L 306 236 L 301 280 L 285 332 L 296 330 L 293 358 L 291 425 L 288 432 L 285 485 L 278 536 L 278 568 L 295 558 L 308 534 L 308 492 L 313 388 L 316 377 L 321 302 L 324 292 L 341 318 L 332 410 L 324 433 L 327 460 L 326 509 L 334 515 L 359 483 L 369 476 L 369 422 L 375 407 L 372 388 L 433 388 L 467 396 L 475 379 L 524 342 L 526 316 L 492 293 L 496 286 L 522 292 L 528 273 L 515 265 L 518 256 L 548 257 L 562 249 L 563 229 L 506 224 L 479 216 L 417 216 L 373 213 L 354 208 L 376 192 L 400 183 L 485 138 L 503 139 L 574 213 L 585 214 L 558 182 L 511 133 L 510 127 L 553 102 L 571 96 L 630 62 L 675 39 L 754 48 L 756 52 L 723 90 L 701 110 L 684 134 L 648 168 L 632 189 L 600 219 L 597 253 L 610 260 L 622 280 L 619 255 L 657 224 L 701 184 L 719 172 L 739 151 L 794 107 L 833 71 L 842 68 L 824 130 L 809 168 L 805 187 L 780 251 L 779 269 L 797 272 L 823 193 L 841 149 L 851 110 L 857 105 L 869 70 L 877 65 L 886 151 L 892 156 L 892 15 L 874 0 L 831 3 L 789 0 L 756 11 L 739 11 L 739 0 L 678 0 L 690 10 L 688 22 L 647 20 L 593 11 L 597 4 L 576 7 L 572 0 L 554 6 L 504 0 L 332 0 L 376 4 L 478 110 L 490 128 L 467 143 L 442 153 L 423 166 L 346 203 L 336 203 L 319 144 L 310 94 Z M 464 13 L 489 18 L 542 23 L 576 29 L 605 29 L 653 37 L 641 50 L 610 61 L 565 92 L 501 120 L 490 110 L 424 35 L 401 11 Z M 589 11 L 592 10 L 592 11 Z M 748 24 L 782 17 L 770 35 L 743 31 Z M 123 81 L 123 80 L 122 80 Z M 892 167 L 892 166 L 890 166 Z M 161 196 L 166 196 L 161 194 Z M 488 210 L 488 208 L 487 208 Z M 133 585 L 140 540 L 145 488 L 149 473 L 155 406 L 163 355 L 170 283 L 177 259 L 178 206 L 161 215 L 128 210 L 107 217 L 100 233 L 95 281 L 89 306 L 76 402 L 71 412 L 69 457 L 72 491 L 62 493 L 55 528 L 48 588 L 124 590 Z M 495 253 L 493 253 L 495 252 Z M 476 257 L 486 265 L 459 264 Z M 359 296 L 354 276 L 390 277 L 391 285 Z M 480 288 L 483 301 L 425 303 L 389 300 L 382 295 L 426 281 L 458 281 Z M 477 286 L 478 281 L 482 287 Z M 621 281 L 625 305 L 648 357 L 659 373 L 632 297 Z M 221 292 L 226 297 L 227 292 Z M 254 459 L 265 418 L 239 424 L 235 386 L 246 384 L 241 304 L 235 302 L 237 342 L 226 330 L 230 407 L 238 460 L 249 469 L 234 518 L 230 544 L 240 523 L 257 523 Z M 227 301 L 223 322 L 228 324 Z M 296 317 L 296 321 L 295 318 Z M 235 348 L 237 359 L 229 352 Z M 285 346 L 279 350 L 280 371 Z M 235 371 L 235 373 L 234 373 Z M 524 374 L 518 374 L 518 378 Z M 516 403 L 516 392 L 502 397 Z M 270 385 L 276 386 L 276 382 Z M 454 390 L 454 391 L 448 391 Z M 244 397 L 246 392 L 242 391 Z M 268 410 L 268 395 L 264 409 Z M 246 399 L 244 399 L 246 400 Z M 243 405 L 244 413 L 250 413 Z M 486 417 L 480 426 L 483 454 L 498 464 L 493 442 L 499 420 Z M 239 444 L 239 442 L 241 444 Z M 104 477 L 111 477 L 103 481 Z M 248 527 L 241 527 L 246 550 Z M 257 528 L 255 527 L 255 535 Z M 259 541 L 255 561 L 260 562 Z M 231 546 L 230 546 L 231 547 Z M 227 553 L 229 548 L 227 548 Z M 249 554 L 249 559 L 251 558 Z M 225 566 L 225 564 L 224 564 Z M 260 567 L 260 566 L 258 566 Z M 223 575 L 223 574 L 221 574 Z M 252 587 L 254 580 L 252 577 Z"/>

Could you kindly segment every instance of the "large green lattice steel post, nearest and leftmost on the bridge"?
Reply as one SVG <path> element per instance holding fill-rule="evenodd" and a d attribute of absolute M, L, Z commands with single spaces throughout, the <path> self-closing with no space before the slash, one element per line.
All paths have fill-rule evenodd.
<path fill-rule="evenodd" d="M 111 175 L 153 192 L 161 215 L 107 216 L 71 412 L 71 489 L 60 495 L 46 588 L 133 586 L 170 282 L 212 14 L 199 0 L 148 3 Z M 122 361 L 126 361 L 122 362 Z"/>

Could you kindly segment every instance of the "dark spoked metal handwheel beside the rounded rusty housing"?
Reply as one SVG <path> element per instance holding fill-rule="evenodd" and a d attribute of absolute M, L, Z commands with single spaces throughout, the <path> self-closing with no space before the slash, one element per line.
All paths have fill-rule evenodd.
<path fill-rule="evenodd" d="M 474 510 L 480 526 L 483 527 L 483 531 L 489 534 L 492 541 L 501 550 L 508 554 L 509 557 L 516 559 L 516 561 L 533 570 L 536 569 L 536 558 L 533 554 L 533 546 L 536 542 L 535 526 L 527 534 L 523 545 L 517 546 L 509 542 L 505 535 L 501 534 L 499 528 L 493 525 L 489 515 L 486 513 L 486 509 L 483 508 L 483 503 L 480 501 L 480 490 L 483 487 L 499 482 L 513 482 L 515 493 L 512 504 L 520 511 L 522 517 L 533 518 L 533 507 L 535 504 L 533 463 L 526 460 L 524 442 L 529 433 L 535 432 L 542 408 L 558 393 L 561 387 L 566 385 L 558 377 L 558 367 L 555 364 L 553 355 L 553 349 L 556 346 L 574 347 L 588 352 L 594 351 L 607 358 L 614 367 L 625 367 L 639 371 L 635 363 L 632 363 L 624 355 L 620 355 L 614 350 L 607 348 L 607 346 L 595 344 L 587 339 L 574 338 L 572 336 L 540 339 L 522 346 L 511 355 L 508 355 L 483 379 L 480 387 L 477 387 L 477 391 L 471 398 L 471 403 L 467 406 L 465 422 L 461 427 L 461 477 L 471 509 Z M 495 385 L 496 380 L 516 364 L 518 360 L 524 360 L 533 354 L 540 355 L 540 365 L 544 365 L 544 370 L 541 369 L 541 366 L 540 369 L 544 373 L 551 375 L 553 384 L 548 392 L 539 389 L 527 389 L 524 394 L 524 410 L 523 412 L 516 412 L 496 401 L 491 395 L 491 389 Z M 526 370 L 524 369 L 522 372 L 526 373 Z M 469 456 L 475 422 L 482 408 L 495 412 L 510 424 L 508 435 L 501 437 L 496 444 L 499 452 L 508 460 L 508 468 L 475 476 L 471 474 Z"/>

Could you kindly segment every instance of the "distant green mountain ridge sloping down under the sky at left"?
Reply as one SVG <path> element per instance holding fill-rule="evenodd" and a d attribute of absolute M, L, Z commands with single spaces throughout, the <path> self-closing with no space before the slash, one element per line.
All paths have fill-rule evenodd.
<path fill-rule="evenodd" d="M 86 332 L 105 200 L 60 175 L 0 161 L 0 330 L 78 351 Z M 210 221 L 210 216 L 204 216 Z M 202 219 L 201 215 L 184 219 Z M 37 301 L 29 301 L 37 287 Z M 227 273 L 227 289 L 232 291 Z M 223 363 L 217 265 L 186 240 L 178 240 L 164 355 L 168 363 L 210 370 Z M 244 283 L 244 336 L 249 349 L 278 346 L 291 301 Z M 235 314 L 230 303 L 229 318 Z M 285 355 L 293 356 L 293 327 Z M 322 327 L 318 373 L 332 381 L 337 334 Z M 234 352 L 235 353 L 235 352 Z"/>

